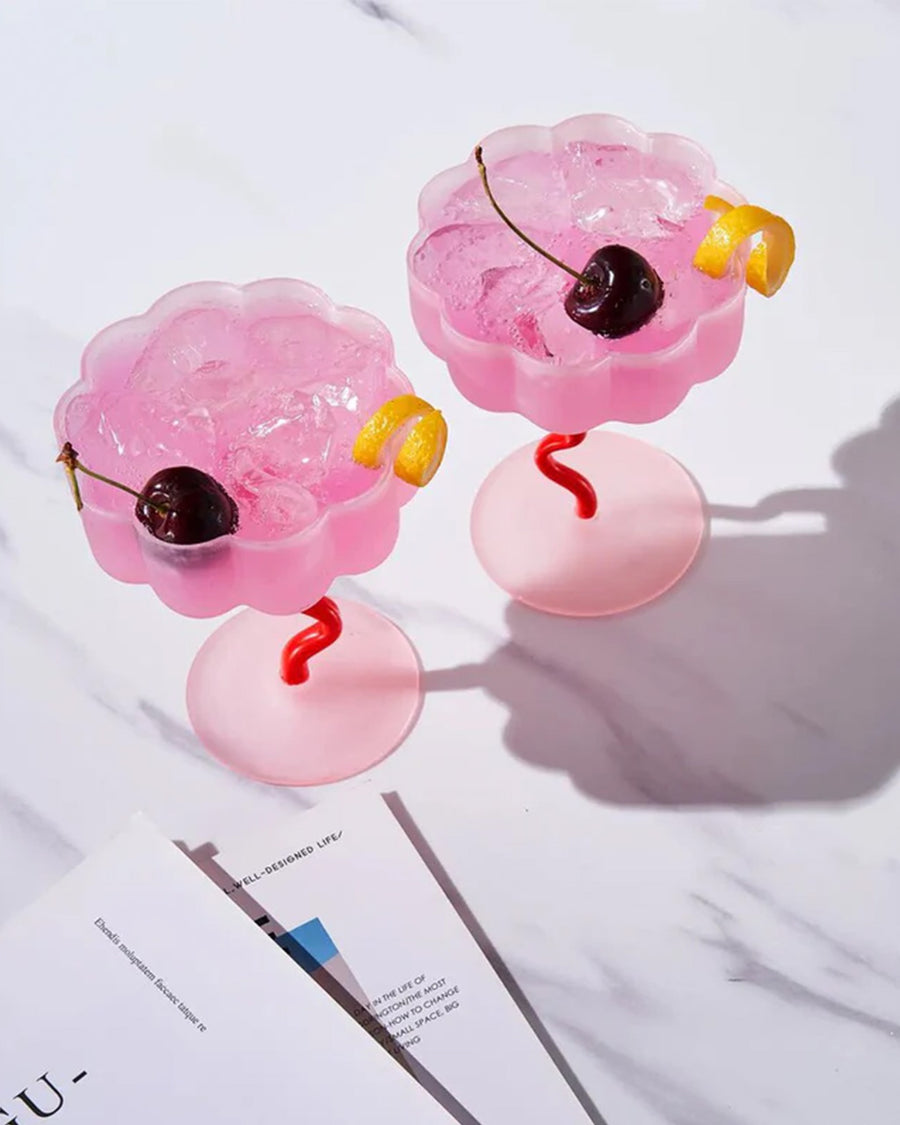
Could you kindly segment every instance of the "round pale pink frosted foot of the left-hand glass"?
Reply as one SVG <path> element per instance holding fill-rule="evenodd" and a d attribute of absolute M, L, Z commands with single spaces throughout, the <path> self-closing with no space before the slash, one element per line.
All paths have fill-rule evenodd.
<path fill-rule="evenodd" d="M 274 785 L 321 785 L 368 770 L 403 741 L 418 714 L 418 658 L 393 622 L 339 602 L 343 632 L 288 686 L 281 649 L 309 618 L 244 610 L 204 644 L 188 675 L 200 741 L 230 768 Z"/>

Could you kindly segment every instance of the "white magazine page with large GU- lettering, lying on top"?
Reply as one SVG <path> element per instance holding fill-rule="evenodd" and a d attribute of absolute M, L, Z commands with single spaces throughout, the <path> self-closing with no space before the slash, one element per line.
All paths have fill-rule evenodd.
<path fill-rule="evenodd" d="M 0 929 L 0 1123 L 451 1118 L 147 821 Z"/>

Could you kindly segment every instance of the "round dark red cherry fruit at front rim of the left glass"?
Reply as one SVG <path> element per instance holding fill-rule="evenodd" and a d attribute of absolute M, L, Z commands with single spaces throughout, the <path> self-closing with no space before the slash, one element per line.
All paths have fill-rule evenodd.
<path fill-rule="evenodd" d="M 165 543 L 207 543 L 237 530 L 237 505 L 208 472 L 181 465 L 155 472 L 134 514 Z"/>

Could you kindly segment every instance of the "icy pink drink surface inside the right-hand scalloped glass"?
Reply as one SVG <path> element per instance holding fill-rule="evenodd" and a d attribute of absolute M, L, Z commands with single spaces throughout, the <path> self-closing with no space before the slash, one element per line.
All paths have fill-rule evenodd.
<path fill-rule="evenodd" d="M 627 144 L 592 141 L 492 163 L 492 187 L 504 210 L 575 270 L 601 246 L 620 243 L 659 274 L 662 307 L 620 340 L 594 335 L 569 320 L 564 299 L 573 279 L 500 220 L 477 178 L 447 199 L 441 225 L 413 254 L 413 272 L 441 294 L 448 323 L 462 335 L 512 345 L 550 364 L 669 348 L 701 314 L 744 285 L 739 263 L 723 280 L 691 264 L 714 219 L 703 207 L 705 171 Z"/>

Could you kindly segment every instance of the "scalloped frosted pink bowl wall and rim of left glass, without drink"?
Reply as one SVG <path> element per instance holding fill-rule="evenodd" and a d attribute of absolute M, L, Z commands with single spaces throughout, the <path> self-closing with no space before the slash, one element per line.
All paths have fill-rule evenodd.
<path fill-rule="evenodd" d="M 246 286 L 198 282 L 166 294 L 142 316 L 110 325 L 88 344 L 81 378 L 55 411 L 60 444 L 74 440 L 70 423 L 75 416 L 79 425 L 84 424 L 86 414 L 92 421 L 104 394 L 125 386 L 154 333 L 197 309 L 227 310 L 238 325 L 263 317 L 318 317 L 371 348 L 381 364 L 386 398 L 412 390 L 394 362 L 385 326 L 359 309 L 334 305 L 321 289 L 290 279 Z M 202 345 L 198 359 L 204 359 Z M 110 472 L 108 466 L 91 465 L 87 452 L 81 452 L 90 468 Z M 215 457 L 220 461 L 225 453 L 219 448 Z M 218 476 L 216 464 L 197 464 L 196 458 L 189 464 Z M 237 605 L 264 613 L 296 613 L 322 597 L 335 577 L 360 574 L 387 558 L 397 540 L 399 508 L 413 494 L 389 465 L 370 472 L 353 466 L 349 452 L 343 462 L 332 462 L 330 471 L 352 478 L 353 487 L 343 489 L 351 495 L 323 503 L 312 524 L 284 539 L 254 540 L 238 533 L 189 547 L 163 543 L 135 520 L 133 501 L 82 477 L 84 530 L 107 574 L 120 582 L 147 583 L 166 605 L 187 616 L 214 616 Z M 143 482 L 126 483 L 140 488 Z"/>

